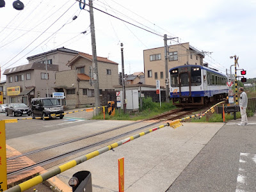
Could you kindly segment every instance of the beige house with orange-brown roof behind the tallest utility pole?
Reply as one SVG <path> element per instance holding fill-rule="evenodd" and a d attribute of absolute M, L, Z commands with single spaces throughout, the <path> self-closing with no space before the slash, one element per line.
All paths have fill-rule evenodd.
<path fill-rule="evenodd" d="M 114 90 L 118 84 L 118 63 L 97 57 L 100 95 L 104 90 Z M 67 106 L 94 104 L 92 55 L 80 52 L 67 63 L 70 70 L 56 72 L 54 90 L 64 92 Z"/>

